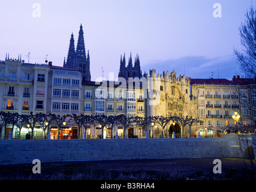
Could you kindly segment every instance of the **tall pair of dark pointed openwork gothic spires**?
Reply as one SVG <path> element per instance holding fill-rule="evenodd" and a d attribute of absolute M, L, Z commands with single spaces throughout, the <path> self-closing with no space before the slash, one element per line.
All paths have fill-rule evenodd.
<path fill-rule="evenodd" d="M 89 50 L 86 57 L 86 47 L 84 45 L 84 31 L 82 24 L 78 35 L 78 41 L 75 50 L 75 41 L 73 40 L 73 33 L 71 34 L 69 43 L 69 52 L 67 53 L 67 61 L 63 63 L 63 67 L 80 70 L 83 80 L 90 81 L 90 56 Z"/>

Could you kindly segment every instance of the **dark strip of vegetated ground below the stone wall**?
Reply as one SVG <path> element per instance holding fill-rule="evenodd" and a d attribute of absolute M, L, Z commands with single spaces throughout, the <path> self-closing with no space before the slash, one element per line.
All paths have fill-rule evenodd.
<path fill-rule="evenodd" d="M 225 158 L 222 173 L 214 174 L 210 159 L 131 160 L 78 163 L 42 163 L 0 166 L 0 180 L 256 180 L 256 162 Z"/>

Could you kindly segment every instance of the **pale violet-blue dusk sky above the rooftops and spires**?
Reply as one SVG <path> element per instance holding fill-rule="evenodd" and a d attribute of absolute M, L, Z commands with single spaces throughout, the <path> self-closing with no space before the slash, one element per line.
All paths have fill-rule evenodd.
<path fill-rule="evenodd" d="M 28 62 L 63 66 L 70 35 L 82 23 L 92 80 L 117 77 L 120 55 L 140 56 L 142 73 L 175 70 L 178 76 L 232 79 L 243 76 L 233 54 L 251 0 L 1 1 L 0 60 L 9 53 Z M 221 17 L 214 17 L 221 5 Z M 38 6 L 40 5 L 40 7 Z M 40 9 L 39 12 L 36 10 Z M 219 13 L 218 13 L 219 14 Z M 219 70 L 218 70 L 219 69 Z M 219 73 L 218 73 L 219 71 Z"/>

